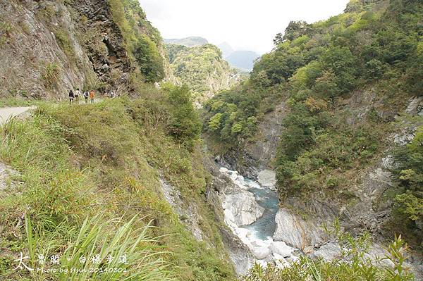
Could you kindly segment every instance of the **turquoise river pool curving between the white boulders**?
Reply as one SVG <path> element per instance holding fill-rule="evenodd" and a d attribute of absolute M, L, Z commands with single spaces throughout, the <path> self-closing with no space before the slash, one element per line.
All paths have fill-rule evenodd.
<path fill-rule="evenodd" d="M 249 181 L 245 180 L 245 182 Z M 248 191 L 254 194 L 257 203 L 264 208 L 264 213 L 262 218 L 259 218 L 252 225 L 245 225 L 244 228 L 253 232 L 258 239 L 265 240 L 267 237 L 272 237 L 276 230 L 275 216 L 279 204 L 277 192 L 264 187 L 250 187 Z"/>

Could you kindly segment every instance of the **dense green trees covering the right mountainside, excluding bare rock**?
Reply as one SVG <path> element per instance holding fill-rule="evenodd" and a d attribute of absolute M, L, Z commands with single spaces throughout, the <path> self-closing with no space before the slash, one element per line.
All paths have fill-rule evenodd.
<path fill-rule="evenodd" d="M 219 152 L 238 149 L 253 139 L 253 124 L 288 96 L 274 163 L 281 196 L 324 191 L 348 203 L 355 171 L 386 148 L 393 116 L 383 112 L 422 94 L 422 17 L 421 1 L 350 1 L 345 13 L 329 20 L 291 22 L 243 87 L 209 101 L 204 130 L 226 143 Z M 367 92 L 376 92 L 381 106 L 352 118 L 348 106 L 354 104 L 345 104 Z M 398 180 L 406 192 L 397 197 L 398 210 L 412 220 L 421 214 L 417 147 L 410 144 L 399 156 Z"/>

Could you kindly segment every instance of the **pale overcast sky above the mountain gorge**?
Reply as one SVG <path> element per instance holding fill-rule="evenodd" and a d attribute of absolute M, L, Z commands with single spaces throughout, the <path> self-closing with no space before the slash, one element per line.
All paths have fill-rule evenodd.
<path fill-rule="evenodd" d="M 264 54 L 290 20 L 314 23 L 341 13 L 348 0 L 139 0 L 164 38 L 204 37 Z"/>

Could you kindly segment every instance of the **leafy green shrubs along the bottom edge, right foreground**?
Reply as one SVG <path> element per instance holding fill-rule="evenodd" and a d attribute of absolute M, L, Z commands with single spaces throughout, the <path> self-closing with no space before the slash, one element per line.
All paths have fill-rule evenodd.
<path fill-rule="evenodd" d="M 369 254 L 369 235 L 351 237 L 348 233 L 337 232 L 341 244 L 341 257 L 333 261 L 321 258 L 301 257 L 289 267 L 276 268 L 268 265 L 266 268 L 256 264 L 243 281 L 301 281 L 301 280 L 371 280 L 371 281 L 409 281 L 414 280 L 412 273 L 405 267 L 408 247 L 399 236 L 389 244 L 384 259 L 393 263 L 386 266 L 381 261 L 372 261 Z"/>

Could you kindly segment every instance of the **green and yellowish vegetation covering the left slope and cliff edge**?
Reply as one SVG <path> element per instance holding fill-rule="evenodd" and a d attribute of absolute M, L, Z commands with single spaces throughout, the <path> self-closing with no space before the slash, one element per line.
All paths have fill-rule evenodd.
<path fill-rule="evenodd" d="M 87 16 L 68 2 L 73 20 L 80 19 L 75 26 L 86 30 Z M 0 279 L 233 280 L 221 226 L 204 202 L 211 176 L 203 166 L 201 121 L 191 92 L 173 85 L 154 87 L 152 82 L 162 80 L 166 66 L 159 32 L 146 20 L 138 1 L 109 0 L 109 4 L 102 11 L 110 8 L 113 18 L 109 20 L 118 25 L 123 37 L 120 42 L 116 36 L 113 43 L 122 44 L 130 58 L 128 73 L 112 69 L 111 76 L 129 77 L 125 86 L 131 98 L 122 91 L 120 98 L 98 104 L 37 101 L 30 117 L 0 125 L 1 169 L 6 163 L 18 171 L 6 189 L 0 187 Z M 48 16 L 55 15 L 54 5 L 45 7 L 39 16 L 49 22 Z M 58 51 L 72 56 L 75 50 L 68 29 L 62 33 L 61 26 L 56 29 Z M 81 42 L 92 39 L 90 32 L 96 31 L 78 34 Z M 108 56 L 109 46 L 103 43 L 93 42 L 92 48 L 98 45 Z M 56 70 L 54 61 L 47 62 L 42 82 L 61 82 Z M 34 101 L 8 98 L 0 106 L 27 103 Z M 0 176 L 4 180 L 3 170 Z M 202 241 L 183 225 L 187 218 L 178 216 L 168 204 L 161 192 L 162 181 L 178 191 L 183 204 L 195 208 Z M 68 271 L 13 270 L 20 252 L 28 256 L 24 263 L 32 268 Z M 46 259 L 44 265 L 40 254 Z M 49 263 L 56 254 L 60 263 Z M 92 261 L 97 254 L 98 260 Z M 118 260 L 122 255 L 128 263 Z M 87 262 L 78 261 L 80 256 Z M 122 271 L 71 272 L 75 266 Z"/>

